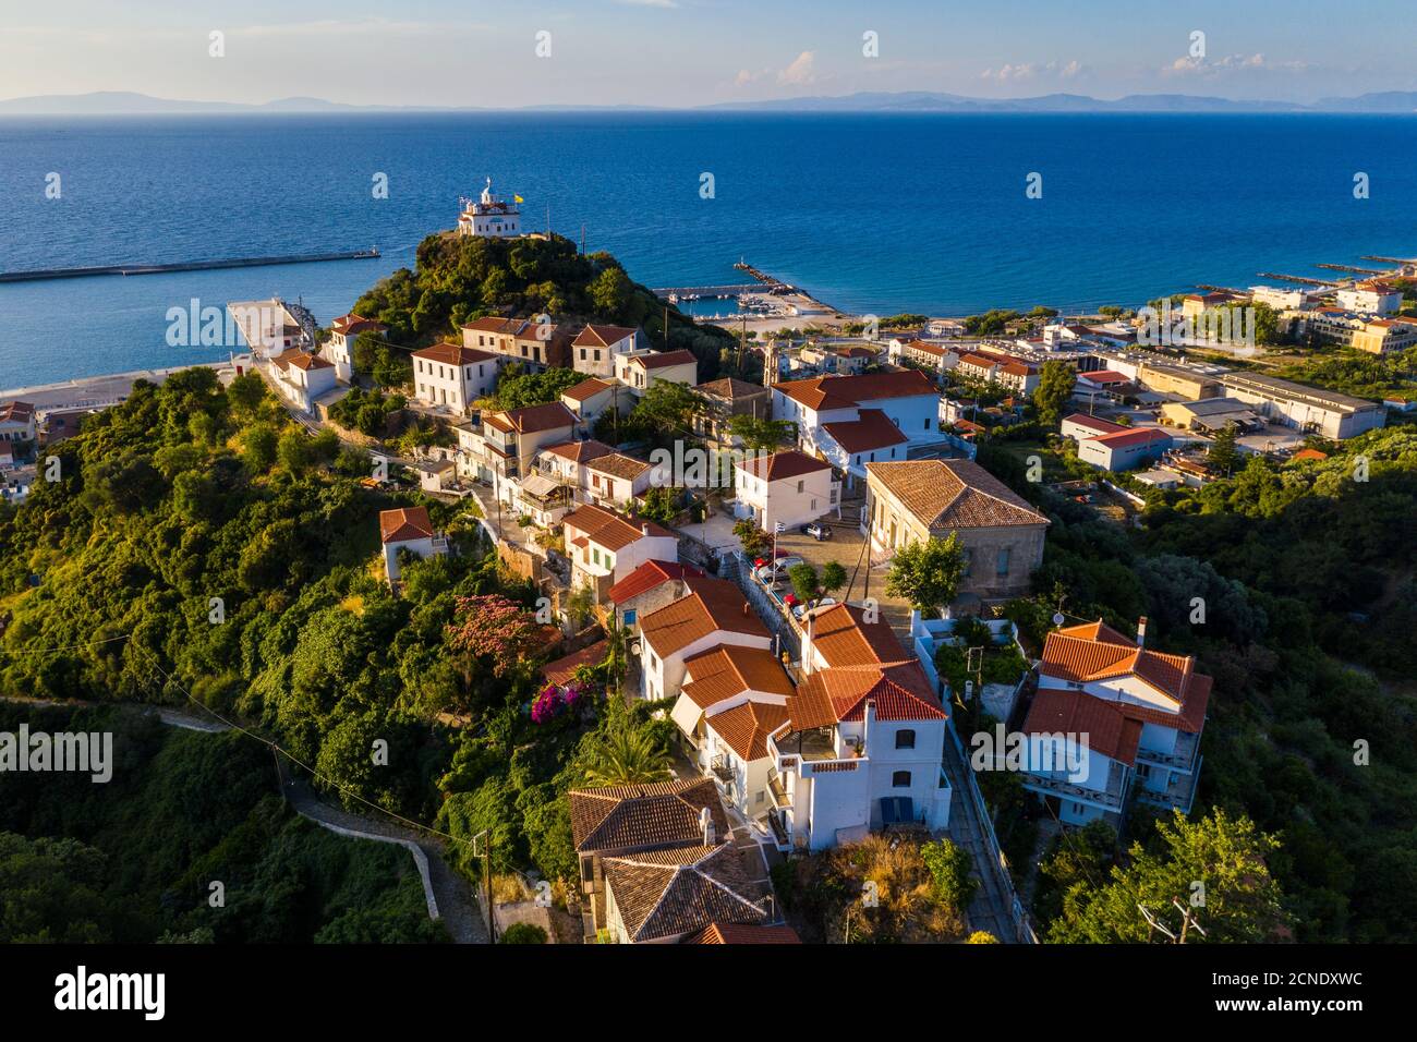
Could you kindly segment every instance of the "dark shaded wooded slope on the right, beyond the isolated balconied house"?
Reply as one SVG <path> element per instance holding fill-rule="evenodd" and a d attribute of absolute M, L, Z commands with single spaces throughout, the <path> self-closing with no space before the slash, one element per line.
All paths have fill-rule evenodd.
<path fill-rule="evenodd" d="M 1138 530 L 1029 482 L 998 445 L 981 461 L 1053 519 L 1040 595 L 1009 605 L 1026 641 L 1060 604 L 1124 632 L 1146 615 L 1151 646 L 1216 678 L 1195 817 L 1278 838 L 1267 862 L 1299 940 L 1413 940 L 1417 431 L 1328 448 L 1153 493 Z M 1134 835 L 1158 849 L 1144 815 Z"/>

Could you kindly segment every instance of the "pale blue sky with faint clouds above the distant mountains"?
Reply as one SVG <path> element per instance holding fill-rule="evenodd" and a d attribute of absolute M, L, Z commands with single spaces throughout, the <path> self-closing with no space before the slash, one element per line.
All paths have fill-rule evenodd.
<path fill-rule="evenodd" d="M 213 31 L 225 57 L 208 54 Z M 550 57 L 536 54 L 550 33 Z M 863 55 L 863 34 L 879 57 Z M 1204 57 L 1190 55 L 1204 33 Z M 0 98 L 648 103 L 1417 89 L 1411 0 L 0 0 Z"/>

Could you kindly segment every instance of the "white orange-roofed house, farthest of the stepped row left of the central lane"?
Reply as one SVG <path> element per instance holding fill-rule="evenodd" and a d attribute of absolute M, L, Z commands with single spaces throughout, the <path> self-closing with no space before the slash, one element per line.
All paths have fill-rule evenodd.
<path fill-rule="evenodd" d="M 687 594 L 639 620 L 640 696 L 677 698 L 694 655 L 723 645 L 772 646 L 743 593 L 723 578 L 686 578 Z"/>

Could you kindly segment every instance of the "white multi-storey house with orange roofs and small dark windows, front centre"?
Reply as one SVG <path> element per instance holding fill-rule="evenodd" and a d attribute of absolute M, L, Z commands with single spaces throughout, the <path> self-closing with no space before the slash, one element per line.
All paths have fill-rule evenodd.
<path fill-rule="evenodd" d="M 947 828 L 949 717 L 890 625 L 852 604 L 808 612 L 802 672 L 788 722 L 767 740 L 778 846 L 823 851 L 897 824 Z"/>

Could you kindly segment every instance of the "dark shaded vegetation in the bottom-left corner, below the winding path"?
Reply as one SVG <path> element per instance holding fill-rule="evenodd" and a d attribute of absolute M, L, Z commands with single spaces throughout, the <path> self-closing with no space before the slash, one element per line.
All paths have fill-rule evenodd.
<path fill-rule="evenodd" d="M 0 730 L 21 722 L 112 732 L 115 768 L 0 774 L 0 943 L 446 940 L 407 851 L 296 817 L 259 743 L 0 705 Z"/>

